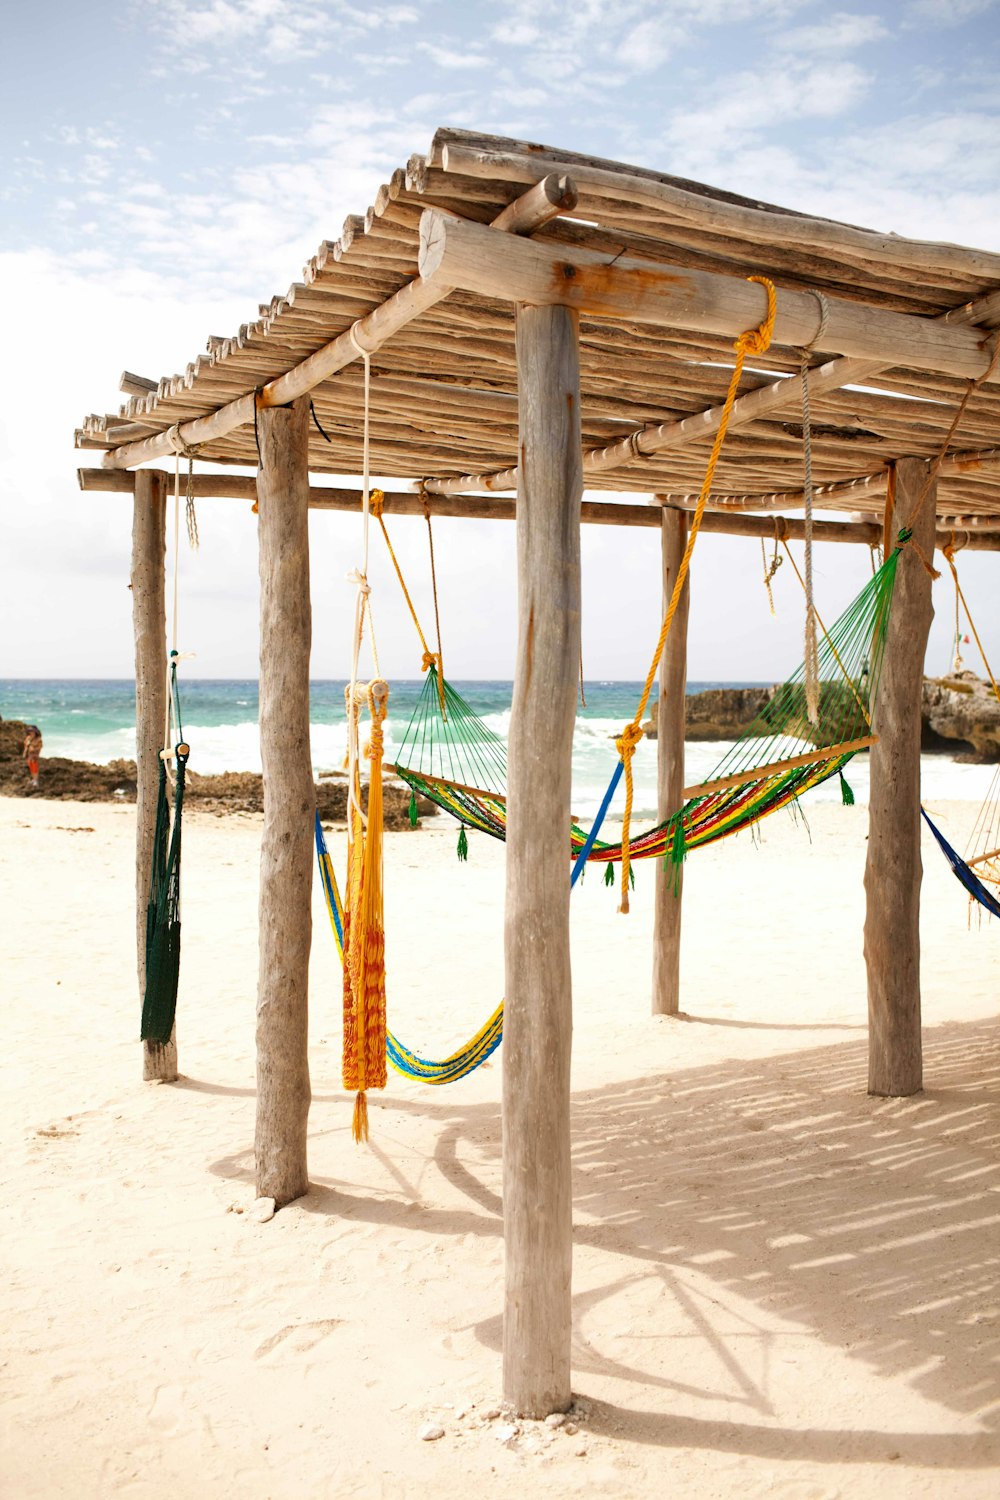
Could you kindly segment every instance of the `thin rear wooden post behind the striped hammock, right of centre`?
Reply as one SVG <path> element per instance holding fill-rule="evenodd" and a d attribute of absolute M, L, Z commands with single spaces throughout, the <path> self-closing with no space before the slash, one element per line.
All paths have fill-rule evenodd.
<path fill-rule="evenodd" d="M 661 520 L 664 614 L 681 568 L 688 540 L 688 518 L 664 506 Z M 657 700 L 657 822 L 663 824 L 684 802 L 684 717 L 688 678 L 690 579 L 660 663 Z M 676 1016 L 681 1010 L 681 885 L 682 866 L 664 868 L 657 860 L 657 891 L 652 918 L 652 1014 Z"/>

